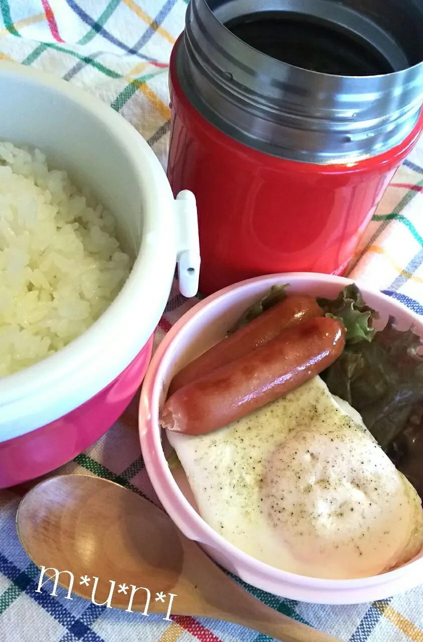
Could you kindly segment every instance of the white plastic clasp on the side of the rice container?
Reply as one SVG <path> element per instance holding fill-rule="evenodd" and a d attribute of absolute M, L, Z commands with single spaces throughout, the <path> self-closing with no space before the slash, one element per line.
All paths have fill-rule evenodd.
<path fill-rule="evenodd" d="M 175 213 L 179 290 L 184 297 L 194 297 L 198 292 L 200 274 L 200 241 L 195 196 L 188 189 L 177 195 Z"/>

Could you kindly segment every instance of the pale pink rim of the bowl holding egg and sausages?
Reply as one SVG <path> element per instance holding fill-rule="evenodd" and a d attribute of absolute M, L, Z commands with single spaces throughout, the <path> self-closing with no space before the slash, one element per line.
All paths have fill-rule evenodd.
<path fill-rule="evenodd" d="M 230 542 L 214 531 L 211 526 L 202 519 L 198 512 L 194 510 L 189 501 L 187 501 L 169 470 L 161 445 L 161 429 L 158 426 L 157 420 L 155 420 L 155 417 L 158 417 L 159 414 L 160 393 L 162 392 L 161 383 L 157 385 L 156 381 L 162 381 L 163 371 L 166 371 L 173 361 L 173 344 L 175 340 L 177 340 L 177 335 L 182 328 L 188 332 L 189 325 L 193 323 L 194 317 L 198 319 L 198 317 L 205 315 L 207 311 L 216 304 L 217 300 L 221 300 L 223 297 L 230 295 L 234 290 L 248 289 L 248 286 L 258 282 L 265 285 L 266 282 L 270 283 L 275 280 L 285 279 L 286 282 L 289 282 L 289 279 L 302 279 L 304 281 L 304 279 L 307 278 L 313 281 L 313 284 L 324 284 L 330 281 L 333 284 L 340 285 L 341 288 L 351 282 L 357 282 L 362 291 L 367 291 L 376 298 L 388 301 L 392 315 L 395 316 L 395 311 L 399 311 L 399 315 L 403 316 L 404 310 L 406 310 L 411 323 L 414 323 L 418 327 L 422 326 L 421 318 L 395 299 L 390 299 L 390 297 L 387 297 L 381 293 L 381 291 L 372 290 L 372 288 L 368 288 L 367 286 L 361 288 L 359 281 L 346 277 L 313 272 L 281 272 L 246 279 L 232 286 L 227 286 L 209 297 L 200 300 L 198 304 L 189 309 L 175 325 L 171 327 L 155 351 L 150 361 L 150 367 L 144 377 L 139 403 L 139 437 L 142 456 L 153 488 L 160 502 L 166 509 L 166 512 L 168 512 L 169 517 L 171 517 L 172 521 L 178 526 L 179 530 L 189 539 L 198 542 L 198 544 L 210 546 L 216 550 L 216 553 L 220 553 L 221 551 L 221 553 L 230 560 L 232 566 L 236 568 L 236 575 L 238 575 L 241 580 L 253 586 L 257 586 L 257 580 L 263 580 L 268 586 L 261 586 L 260 588 L 270 593 L 275 593 L 274 590 L 272 591 L 270 585 L 278 587 L 277 594 L 280 594 L 280 589 L 286 587 L 286 597 L 306 602 L 351 604 L 383 599 L 393 593 L 409 590 L 423 583 L 423 557 L 417 560 L 411 560 L 407 564 L 392 571 L 382 573 L 381 575 L 352 580 L 329 580 L 297 575 L 296 573 L 289 573 L 288 571 L 277 569 L 254 559 L 247 553 L 236 548 L 233 544 L 230 544 Z M 295 283 L 293 286 L 295 287 Z M 178 505 L 180 505 L 180 508 L 178 508 Z M 413 566 L 413 580 L 411 580 L 410 577 L 410 566 Z M 388 595 L 386 591 L 383 591 L 383 597 L 381 597 L 377 594 L 377 590 L 378 588 L 381 589 L 381 587 L 386 586 L 386 584 L 389 584 L 390 594 Z M 347 596 L 347 601 L 345 601 L 342 595 L 347 592 L 349 592 L 350 595 Z M 370 592 L 372 593 L 371 595 L 368 594 Z M 359 594 L 359 598 L 356 594 Z M 328 595 L 330 595 L 329 599 Z"/>

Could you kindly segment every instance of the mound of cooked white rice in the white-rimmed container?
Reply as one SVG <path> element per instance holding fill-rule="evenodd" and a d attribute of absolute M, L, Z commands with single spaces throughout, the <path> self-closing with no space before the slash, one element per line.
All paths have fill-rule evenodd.
<path fill-rule="evenodd" d="M 39 150 L 0 142 L 0 376 L 53 354 L 130 272 L 114 217 Z"/>

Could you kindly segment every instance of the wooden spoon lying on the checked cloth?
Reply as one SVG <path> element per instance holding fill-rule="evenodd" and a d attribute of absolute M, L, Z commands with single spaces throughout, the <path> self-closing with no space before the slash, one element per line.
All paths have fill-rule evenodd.
<path fill-rule="evenodd" d="M 108 480 L 85 475 L 44 480 L 22 499 L 16 524 L 31 560 L 49 569 L 43 582 L 54 577 L 53 569 L 70 571 L 72 592 L 96 603 L 106 602 L 114 586 L 108 605 L 128 611 L 132 591 L 144 587 L 150 602 L 140 589 L 129 611 L 164 613 L 168 620 L 169 612 L 225 620 L 283 642 L 340 642 L 256 600 L 166 513 Z M 80 583 L 83 577 L 89 586 Z M 70 580 L 69 573 L 60 573 L 58 584 L 68 588 Z M 47 584 L 52 591 L 53 584 Z M 119 592 L 119 585 L 128 591 Z"/>

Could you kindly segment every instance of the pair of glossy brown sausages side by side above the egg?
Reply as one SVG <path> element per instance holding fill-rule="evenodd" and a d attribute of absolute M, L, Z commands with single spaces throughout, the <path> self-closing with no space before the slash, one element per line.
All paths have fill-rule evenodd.
<path fill-rule="evenodd" d="M 344 326 L 315 299 L 289 295 L 180 370 L 160 424 L 187 435 L 223 428 L 325 370 L 344 345 Z"/>

